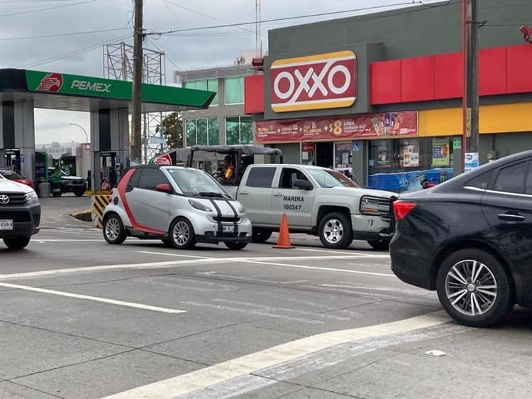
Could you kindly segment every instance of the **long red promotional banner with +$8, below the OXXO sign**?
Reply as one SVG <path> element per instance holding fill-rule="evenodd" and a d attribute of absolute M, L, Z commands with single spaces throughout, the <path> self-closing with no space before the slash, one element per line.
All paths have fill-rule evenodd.
<path fill-rule="evenodd" d="M 417 135 L 417 111 L 363 114 L 341 119 L 299 119 L 255 123 L 257 143 Z"/>

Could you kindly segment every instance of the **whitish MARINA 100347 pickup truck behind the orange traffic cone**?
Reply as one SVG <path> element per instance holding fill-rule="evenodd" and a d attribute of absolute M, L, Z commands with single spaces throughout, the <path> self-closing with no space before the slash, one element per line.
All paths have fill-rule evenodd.
<path fill-rule="evenodd" d="M 327 248 L 355 240 L 386 249 L 392 235 L 393 192 L 363 189 L 331 169 L 310 165 L 248 165 L 240 185 L 226 186 L 253 224 L 253 239 L 278 231 L 286 213 L 290 231 L 314 234 Z"/>

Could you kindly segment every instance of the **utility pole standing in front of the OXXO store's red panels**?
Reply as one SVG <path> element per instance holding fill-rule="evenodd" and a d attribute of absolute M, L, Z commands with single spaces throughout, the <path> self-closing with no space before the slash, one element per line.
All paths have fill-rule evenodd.
<path fill-rule="evenodd" d="M 463 1 L 464 21 L 464 153 L 479 148 L 478 21 L 477 0 Z"/>

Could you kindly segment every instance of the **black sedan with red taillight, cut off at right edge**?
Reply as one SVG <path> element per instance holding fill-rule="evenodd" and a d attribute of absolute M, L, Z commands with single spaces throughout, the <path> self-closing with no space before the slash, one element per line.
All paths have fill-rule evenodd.
<path fill-rule="evenodd" d="M 532 151 L 394 202 L 392 270 L 437 290 L 448 314 L 484 327 L 532 307 Z"/>

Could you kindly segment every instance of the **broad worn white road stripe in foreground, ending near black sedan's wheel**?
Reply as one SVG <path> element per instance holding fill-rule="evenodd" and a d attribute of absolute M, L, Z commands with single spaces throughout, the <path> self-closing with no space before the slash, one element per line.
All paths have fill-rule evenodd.
<path fill-rule="evenodd" d="M 140 386 L 122 393 L 109 395 L 104 399 L 164 399 L 192 393 L 217 383 L 246 376 L 257 371 L 301 358 L 308 354 L 362 339 L 386 337 L 392 334 L 425 329 L 450 322 L 443 312 L 412 317 L 398 322 L 377 324 L 369 327 L 326 332 L 287 342 L 263 351 L 241 356 L 238 359 L 224 361 L 198 371 L 182 374 L 174 378 Z"/>

